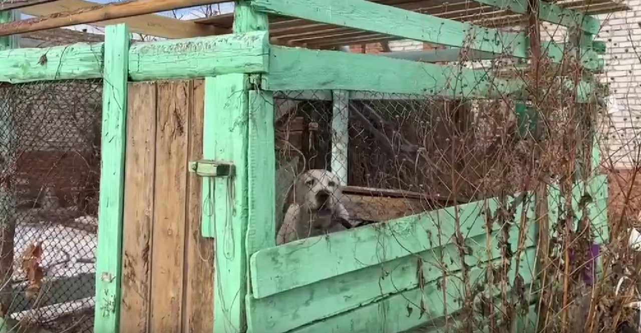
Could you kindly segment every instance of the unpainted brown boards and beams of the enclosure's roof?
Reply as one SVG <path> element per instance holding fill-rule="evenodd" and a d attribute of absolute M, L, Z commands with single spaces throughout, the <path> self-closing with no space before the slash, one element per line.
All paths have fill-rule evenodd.
<path fill-rule="evenodd" d="M 460 0 L 451 3 L 444 0 L 370 1 L 491 28 L 515 26 L 526 20 L 524 13 L 527 6 L 524 4 L 527 0 Z M 3 4 L 3 8 L 17 8 L 22 13 L 36 17 L 0 26 L 0 36 L 74 24 L 104 27 L 116 23 L 128 24 L 131 32 L 165 38 L 221 35 L 231 32 L 233 14 L 180 20 L 154 13 L 224 2 L 228 0 L 129 0 L 109 4 L 98 4 L 86 0 L 8 0 L 8 3 Z M 546 10 L 547 12 L 567 12 L 567 15 L 553 14 L 555 17 L 562 17 L 560 22 L 556 23 L 568 26 L 568 22 L 561 21 L 580 19 L 584 31 L 587 30 L 589 33 L 595 33 L 595 27 L 599 27 L 598 20 L 589 15 L 629 10 L 629 7 L 620 3 L 620 0 L 562 0 L 558 3 L 545 1 L 540 3 L 544 7 L 540 16 L 545 16 Z M 105 17 L 110 19 L 103 20 Z M 545 20 L 544 17 L 542 20 Z M 270 15 L 269 31 L 272 44 L 318 49 L 402 39 L 371 31 L 278 15 Z"/>

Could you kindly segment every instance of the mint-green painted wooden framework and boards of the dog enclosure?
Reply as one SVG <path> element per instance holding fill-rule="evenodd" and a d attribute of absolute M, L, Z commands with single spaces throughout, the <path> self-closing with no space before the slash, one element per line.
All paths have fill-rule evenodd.
<path fill-rule="evenodd" d="M 517 13 L 527 8 L 526 0 L 479 2 L 508 6 Z M 540 19 L 576 26 L 584 37 L 580 48 L 545 42 L 544 53 L 558 63 L 564 52 L 580 50 L 578 58 L 585 69 L 601 70 L 603 60 L 598 55 L 603 50 L 592 40 L 599 21 L 557 4 L 540 4 L 544 8 Z M 517 253 L 510 259 L 508 274 L 512 280 L 520 275 L 526 285 L 535 283 L 535 220 L 540 216 L 533 209 L 537 200 L 533 193 L 517 193 L 507 203 L 470 202 L 330 234 L 322 241 L 275 246 L 274 92 L 342 90 L 520 99 L 526 83 L 458 65 L 270 45 L 267 13 L 528 57 L 524 33 L 365 0 L 318 0 L 314 6 L 304 0 L 237 1 L 233 34 L 213 37 L 131 43 L 122 24 L 108 26 L 104 43 L 97 44 L 11 49 L 10 38 L 0 37 L 0 82 L 104 79 L 95 332 L 118 332 L 119 325 L 128 81 L 205 78 L 203 159 L 235 167 L 233 174 L 203 176 L 203 193 L 213 186 L 215 198 L 221 199 L 203 195 L 202 234 L 218 240 L 213 304 L 217 333 L 403 332 L 440 320 L 461 308 L 457 298 L 464 289 L 463 266 L 470 267 L 466 279 L 481 283 L 488 263 L 500 260 L 501 252 L 495 246 L 488 248 L 487 240 L 501 232 L 506 232 L 509 243 L 524 240 L 525 245 L 518 251 L 512 248 Z M 8 20 L 10 15 L 1 14 L 0 22 Z M 574 86 L 572 79 L 566 84 Z M 594 95 L 587 79 L 572 89 L 577 102 L 588 102 Z M 607 241 L 602 236 L 607 234 L 604 188 L 603 175 L 587 184 L 594 199 L 588 211 L 599 229 L 599 242 Z M 576 191 L 575 203 L 583 192 Z M 229 197 L 231 203 L 223 200 Z M 507 231 L 497 223 L 485 223 L 484 216 L 497 215 L 514 200 L 520 202 L 504 221 L 510 225 Z M 553 206 L 562 199 L 551 188 L 547 200 Z M 552 209 L 551 220 L 554 214 Z M 216 223 L 220 216 L 229 224 Z M 453 241 L 461 230 L 465 230 L 463 244 Z M 460 257 L 463 245 L 469 253 Z M 444 258 L 454 272 L 447 279 L 439 268 Z M 428 330 L 440 332 L 442 327 Z"/>

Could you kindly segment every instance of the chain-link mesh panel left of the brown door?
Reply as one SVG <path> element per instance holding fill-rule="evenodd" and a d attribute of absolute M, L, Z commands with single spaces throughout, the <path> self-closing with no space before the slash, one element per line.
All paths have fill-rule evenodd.
<path fill-rule="evenodd" d="M 1 300 L 22 324 L 92 331 L 101 109 L 101 79 L 0 86 Z"/>

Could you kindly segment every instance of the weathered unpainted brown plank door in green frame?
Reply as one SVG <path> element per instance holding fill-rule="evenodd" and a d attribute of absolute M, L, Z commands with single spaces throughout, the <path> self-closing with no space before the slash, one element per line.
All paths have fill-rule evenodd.
<path fill-rule="evenodd" d="M 121 332 L 212 332 L 213 240 L 201 236 L 204 83 L 129 83 Z"/>

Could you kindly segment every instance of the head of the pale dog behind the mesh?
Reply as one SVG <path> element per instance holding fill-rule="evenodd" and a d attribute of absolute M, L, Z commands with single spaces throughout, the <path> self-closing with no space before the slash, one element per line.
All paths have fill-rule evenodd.
<path fill-rule="evenodd" d="M 328 170 L 308 170 L 296 178 L 296 203 L 319 215 L 331 215 L 341 194 L 340 179 Z"/>

